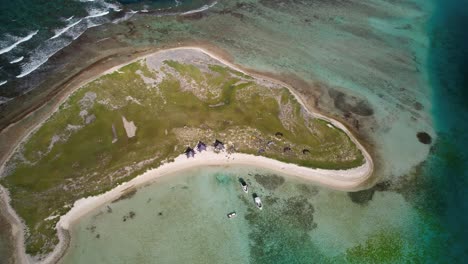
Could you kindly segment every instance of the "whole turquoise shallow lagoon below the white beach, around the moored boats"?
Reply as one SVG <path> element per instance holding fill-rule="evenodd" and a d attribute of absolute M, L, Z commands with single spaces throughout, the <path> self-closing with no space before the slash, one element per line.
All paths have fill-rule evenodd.
<path fill-rule="evenodd" d="M 264 210 L 254 206 L 252 192 Z M 228 219 L 230 211 L 238 217 Z M 210 167 L 158 179 L 84 217 L 63 263 L 335 262 L 362 260 L 363 252 L 382 253 L 388 245 L 396 252 L 387 260 L 399 260 L 418 254 L 418 221 L 399 194 L 378 193 L 363 204 L 252 167 Z M 358 247 L 369 238 L 382 245 Z"/>

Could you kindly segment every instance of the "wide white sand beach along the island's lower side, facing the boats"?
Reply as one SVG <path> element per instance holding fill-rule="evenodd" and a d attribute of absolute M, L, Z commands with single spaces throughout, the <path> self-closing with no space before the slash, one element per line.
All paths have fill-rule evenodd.
<path fill-rule="evenodd" d="M 165 163 L 158 168 L 150 169 L 132 180 L 122 183 L 112 190 L 97 196 L 81 198 L 73 204 L 71 210 L 60 217 L 57 223 L 57 234 L 60 239 L 55 247 L 41 263 L 58 263 L 66 255 L 71 242 L 71 226 L 93 210 L 118 199 L 129 189 L 141 188 L 146 184 L 152 184 L 154 180 L 170 176 L 174 173 L 199 167 L 225 167 L 234 165 L 252 166 L 266 169 L 286 177 L 296 177 L 308 180 L 314 184 L 338 189 L 350 190 L 364 182 L 373 172 L 371 160 L 356 168 L 348 170 L 324 170 L 301 167 L 292 163 L 284 163 L 274 159 L 251 154 L 226 152 L 215 153 L 211 149 L 202 153 L 196 153 L 194 158 L 179 155 L 173 162 Z"/>

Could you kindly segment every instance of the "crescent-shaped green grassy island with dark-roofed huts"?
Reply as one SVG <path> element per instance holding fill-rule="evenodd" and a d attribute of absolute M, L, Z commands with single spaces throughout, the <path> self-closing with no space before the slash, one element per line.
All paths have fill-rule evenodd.
<path fill-rule="evenodd" d="M 229 162 L 322 173 L 318 183 L 355 170 L 352 186 L 372 171 L 352 134 L 308 111 L 287 85 L 179 48 L 76 89 L 17 147 L 0 183 L 27 228 L 26 253 L 42 258 L 59 243 L 57 223 L 76 201 L 124 190 L 151 169 Z"/>

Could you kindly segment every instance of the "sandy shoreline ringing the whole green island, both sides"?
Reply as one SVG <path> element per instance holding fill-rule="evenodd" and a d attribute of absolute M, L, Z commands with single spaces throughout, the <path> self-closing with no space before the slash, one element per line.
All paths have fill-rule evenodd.
<path fill-rule="evenodd" d="M 98 195 L 98 196 L 93 196 L 93 197 L 88 197 L 88 198 L 82 198 L 82 199 L 80 199 L 78 201 L 75 201 L 75 204 L 71 208 L 71 210 L 67 214 L 61 216 L 59 222 L 57 223 L 57 232 L 58 232 L 58 236 L 59 236 L 59 244 L 57 244 L 57 246 L 54 248 L 53 252 L 48 254 L 46 256 L 46 258 L 43 261 L 41 261 L 41 263 L 55 263 L 55 262 L 59 261 L 60 258 L 66 253 L 66 249 L 67 249 L 67 245 L 69 244 L 70 236 L 69 236 L 69 234 L 67 234 L 67 232 L 68 232 L 67 229 L 62 228 L 62 225 L 63 225 L 62 218 L 67 219 L 67 215 L 69 215 L 71 213 L 71 218 L 72 219 L 75 219 L 75 220 L 79 219 L 82 216 L 82 214 L 76 213 L 76 210 L 79 211 L 80 208 L 83 208 L 83 206 L 84 206 L 85 209 L 87 208 L 86 203 L 84 203 L 84 205 L 83 204 L 80 205 L 80 203 L 78 203 L 79 201 L 82 201 L 83 199 L 89 199 L 88 201 L 95 201 L 96 200 L 95 203 L 98 203 L 99 201 L 101 201 L 101 203 L 102 203 L 103 200 L 99 200 L 99 197 L 104 197 L 104 198 L 100 198 L 100 199 L 107 199 L 106 197 L 111 196 L 110 194 L 107 194 L 107 193 L 111 193 L 112 195 L 115 196 L 116 194 L 119 194 L 119 192 L 122 191 L 121 186 L 126 187 L 127 184 L 138 184 L 138 186 L 139 186 L 139 185 L 142 184 L 142 182 L 140 182 L 140 181 L 147 182 L 149 180 L 154 179 L 154 177 L 152 178 L 152 177 L 149 177 L 149 176 L 145 176 L 147 174 L 151 174 L 151 172 L 159 173 L 158 175 L 163 176 L 163 175 L 166 175 L 166 174 L 170 174 L 171 172 L 183 170 L 184 168 L 188 169 L 190 167 L 197 167 L 197 166 L 199 167 L 199 166 L 222 166 L 222 165 L 252 165 L 252 166 L 255 166 L 255 167 L 259 167 L 259 168 L 265 168 L 265 169 L 270 169 L 270 170 L 273 170 L 273 171 L 277 171 L 279 173 L 289 175 L 289 176 L 301 177 L 301 178 L 304 178 L 306 180 L 310 180 L 313 183 L 324 185 L 324 186 L 327 186 L 327 187 L 330 187 L 330 188 L 333 188 L 333 189 L 346 190 L 346 191 L 358 190 L 360 187 L 362 187 L 362 185 L 364 185 L 371 178 L 372 173 L 374 171 L 373 160 L 372 160 L 370 154 L 368 153 L 368 151 L 363 147 L 363 145 L 357 140 L 357 138 L 350 132 L 350 130 L 344 124 L 342 124 L 341 122 L 339 122 L 339 121 L 337 121 L 337 120 L 335 120 L 333 118 L 329 118 L 329 117 L 327 117 L 327 116 L 325 116 L 323 114 L 320 114 L 320 113 L 318 113 L 316 111 L 311 111 L 309 109 L 309 107 L 307 107 L 307 105 L 305 105 L 303 98 L 294 90 L 294 88 L 292 86 L 288 85 L 287 83 L 284 83 L 282 81 L 279 81 L 279 80 L 276 80 L 274 78 L 267 77 L 267 76 L 264 76 L 264 75 L 261 75 L 261 74 L 252 73 L 252 72 L 249 72 L 248 70 L 243 70 L 239 66 L 236 66 L 233 63 L 230 63 L 229 61 L 224 59 L 223 56 L 214 54 L 212 51 L 208 51 L 207 49 L 205 49 L 205 48 L 203 48 L 201 46 L 186 46 L 186 47 L 176 47 L 176 48 L 168 48 L 168 49 L 158 49 L 158 50 L 153 51 L 153 52 L 146 51 L 146 52 L 143 52 L 143 55 L 137 56 L 137 57 L 135 57 L 135 58 L 133 58 L 133 59 L 131 59 L 129 61 L 126 61 L 126 62 L 121 63 L 119 65 L 113 66 L 110 69 L 107 69 L 107 70 L 104 70 L 104 71 L 100 72 L 99 74 L 95 74 L 92 78 L 87 78 L 87 79 L 84 79 L 82 81 L 79 81 L 73 87 L 69 88 L 69 90 L 66 91 L 63 95 L 61 95 L 60 98 L 58 98 L 58 101 L 53 104 L 52 109 L 49 112 L 47 112 L 47 114 L 41 120 L 39 120 L 35 125 L 30 127 L 28 130 L 26 130 L 25 134 L 23 134 L 22 136 L 19 137 L 18 141 L 15 142 L 16 144 L 13 144 L 13 147 L 11 147 L 11 150 L 9 151 L 9 153 L 6 153 L 6 155 L 4 156 L 4 161 L 2 162 L 2 164 L 0 166 L 0 172 L 3 171 L 5 162 L 10 159 L 11 155 L 21 145 L 21 143 L 24 142 L 25 140 L 27 140 L 28 137 L 33 132 L 35 132 L 36 129 L 38 129 L 55 111 L 57 111 L 59 106 L 71 94 L 73 94 L 77 89 L 79 89 L 80 87 L 82 87 L 86 83 L 89 83 L 89 82 L 91 82 L 91 81 L 93 81 L 93 80 L 95 80 L 95 79 L 97 79 L 97 78 L 99 78 L 99 77 L 101 77 L 101 76 L 103 76 L 105 74 L 113 72 L 113 71 L 115 71 L 115 70 L 117 70 L 117 69 L 119 69 L 119 68 L 121 68 L 121 67 L 123 67 L 125 65 L 128 65 L 128 64 L 130 64 L 132 62 L 144 59 L 144 58 L 146 58 L 148 56 L 157 54 L 159 52 L 171 51 L 171 50 L 192 50 L 192 51 L 202 52 L 202 53 L 208 55 L 209 57 L 219 61 L 220 63 L 222 63 L 222 64 L 226 65 L 227 67 L 230 67 L 230 68 L 232 68 L 232 69 L 234 69 L 236 71 L 242 72 L 244 74 L 248 74 L 248 75 L 250 75 L 250 76 L 252 76 L 252 77 L 254 77 L 256 79 L 259 79 L 259 80 L 268 80 L 270 82 L 274 82 L 274 83 L 277 83 L 277 84 L 280 84 L 280 85 L 286 87 L 294 95 L 294 97 L 301 104 L 301 106 L 304 107 L 304 109 L 309 112 L 309 114 L 311 114 L 312 116 L 318 117 L 320 119 L 326 120 L 326 121 L 330 122 L 331 124 L 333 124 L 335 127 L 343 130 L 348 135 L 348 137 L 353 141 L 353 143 L 356 144 L 356 146 L 361 150 L 361 152 L 362 152 L 362 154 L 364 156 L 364 159 L 365 159 L 365 163 L 363 165 L 357 167 L 357 168 L 353 168 L 353 169 L 349 169 L 349 170 L 323 170 L 323 169 L 310 169 L 310 168 L 300 167 L 300 166 L 297 166 L 297 165 L 283 163 L 283 162 L 268 159 L 268 158 L 265 158 L 265 157 L 259 157 L 259 156 L 248 155 L 248 154 L 231 154 L 230 156 L 233 157 L 232 161 L 229 160 L 229 159 L 226 160 L 223 157 L 221 157 L 221 158 L 220 157 L 209 157 L 208 160 L 201 160 L 201 161 L 199 159 L 194 159 L 194 162 L 192 162 L 192 161 L 190 161 L 190 162 L 181 161 L 181 159 L 180 159 L 181 157 L 185 158 L 185 156 L 182 155 L 182 156 L 177 157 L 175 162 L 164 164 L 164 165 L 161 165 L 160 167 L 158 167 L 156 169 L 149 170 L 149 171 L 145 172 L 144 174 L 139 175 L 139 176 L 135 177 L 134 179 L 130 180 L 129 182 L 123 183 L 123 184 L 115 187 L 114 189 L 112 189 L 112 190 L 110 190 L 110 191 L 108 191 L 108 192 L 106 192 L 104 194 L 101 194 L 101 195 Z M 73 82 L 73 81 L 74 80 L 72 79 L 70 82 Z M 45 104 L 43 106 L 45 106 Z M 39 109 L 41 109 L 43 106 L 41 106 Z M 24 118 L 27 118 L 30 115 L 33 115 L 34 113 L 35 113 L 35 111 L 32 111 L 32 112 L 26 114 Z M 20 121 L 18 121 L 18 122 L 20 122 Z M 10 126 L 14 126 L 15 124 L 16 123 L 13 123 Z M 7 130 L 10 126 L 6 127 L 2 132 Z M 204 155 L 204 154 L 198 154 L 198 156 L 201 156 L 201 155 Z M 220 156 L 222 156 L 222 155 L 220 155 Z M 182 166 L 182 168 L 176 168 L 177 166 Z M 167 170 L 171 170 L 171 168 L 172 168 L 172 171 L 168 172 Z M 291 169 L 292 171 L 295 172 L 295 174 L 285 173 L 285 171 L 284 171 L 285 168 Z M 158 172 L 158 170 L 163 170 L 163 171 Z M 340 175 L 340 173 L 343 173 L 343 172 L 344 172 L 344 174 Z M 322 175 L 322 176 L 320 176 L 320 175 Z M 160 177 L 160 176 L 156 176 L 156 178 Z M 326 178 L 324 178 L 324 176 L 326 176 Z M 146 179 L 146 180 L 141 180 L 141 179 Z M 19 216 L 16 214 L 16 212 L 10 206 L 10 203 L 9 203 L 10 198 L 8 196 L 7 190 L 3 186 L 0 186 L 0 187 L 1 187 L 0 190 L 1 190 L 1 198 L 2 198 L 2 207 L 6 207 L 6 210 L 2 210 L 2 211 L 7 212 L 7 214 L 5 214 L 5 215 L 6 215 L 6 217 L 8 219 L 11 220 L 10 223 L 12 225 L 12 228 L 13 227 L 22 227 L 22 228 L 18 228 L 19 230 L 17 230 L 17 232 L 15 234 L 13 234 L 14 237 L 15 237 L 14 244 L 15 244 L 16 258 L 18 260 L 20 260 L 20 262 L 25 262 L 25 263 L 37 262 L 37 260 L 33 260 L 32 258 L 30 258 L 29 255 L 25 254 L 24 234 L 25 234 L 25 229 L 26 228 L 25 228 L 22 220 L 19 218 Z M 129 186 L 129 187 L 131 187 L 131 186 Z M 88 202 L 88 203 L 90 203 L 90 202 Z M 5 204 L 5 205 L 3 206 L 3 204 Z M 88 207 L 89 206 L 90 205 L 88 204 Z M 99 206 L 99 204 L 94 205 L 93 208 L 96 208 L 97 206 Z M 75 208 L 78 208 L 78 209 L 75 209 Z M 73 213 L 73 212 L 75 212 L 75 213 Z M 68 216 L 68 218 L 70 218 L 70 216 Z M 67 220 L 64 220 L 64 221 L 67 221 Z M 68 221 L 69 221 L 68 225 L 71 222 L 73 222 L 71 220 L 68 220 Z M 67 223 L 67 222 L 65 222 L 65 223 Z M 68 225 L 65 224 L 65 227 L 68 228 L 69 227 Z"/>

